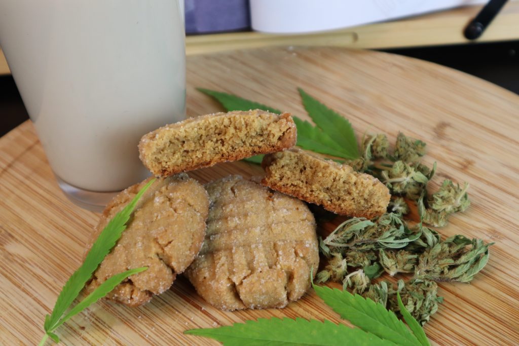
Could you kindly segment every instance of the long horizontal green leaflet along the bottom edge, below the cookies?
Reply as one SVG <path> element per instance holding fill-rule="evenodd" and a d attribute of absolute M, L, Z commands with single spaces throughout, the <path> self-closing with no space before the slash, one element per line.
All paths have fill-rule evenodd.
<path fill-rule="evenodd" d="M 260 345 L 391 345 L 358 328 L 349 328 L 330 321 L 316 321 L 297 318 L 258 319 L 232 326 L 208 329 L 190 329 L 184 334 L 203 336 L 222 342 L 225 346 L 260 346 Z"/>

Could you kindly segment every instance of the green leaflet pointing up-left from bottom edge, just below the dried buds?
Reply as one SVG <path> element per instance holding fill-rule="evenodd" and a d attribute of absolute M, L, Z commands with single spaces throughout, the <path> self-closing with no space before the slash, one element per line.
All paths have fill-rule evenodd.
<path fill-rule="evenodd" d="M 347 290 L 341 291 L 315 285 L 313 289 L 340 317 L 362 330 L 399 345 L 420 345 L 418 339 L 411 334 L 397 315 L 386 310 L 380 303 L 359 295 L 352 295 Z"/>

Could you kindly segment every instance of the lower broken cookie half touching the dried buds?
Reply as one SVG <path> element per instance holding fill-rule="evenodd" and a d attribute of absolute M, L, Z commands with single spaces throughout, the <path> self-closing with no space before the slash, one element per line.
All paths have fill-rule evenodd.
<path fill-rule="evenodd" d="M 391 195 L 377 178 L 301 149 L 266 155 L 262 184 L 340 215 L 372 218 L 386 212 Z"/>

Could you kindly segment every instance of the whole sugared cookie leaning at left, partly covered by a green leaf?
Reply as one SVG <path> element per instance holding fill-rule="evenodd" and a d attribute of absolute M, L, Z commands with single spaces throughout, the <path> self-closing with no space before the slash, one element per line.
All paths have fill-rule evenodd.
<path fill-rule="evenodd" d="M 148 181 L 122 191 L 106 206 L 88 249 L 99 233 Z M 106 279 L 132 268 L 148 267 L 130 276 L 106 297 L 139 306 L 167 290 L 198 254 L 206 234 L 209 200 L 206 190 L 185 173 L 157 179 L 135 207 L 122 236 L 94 272 L 91 292 Z"/>

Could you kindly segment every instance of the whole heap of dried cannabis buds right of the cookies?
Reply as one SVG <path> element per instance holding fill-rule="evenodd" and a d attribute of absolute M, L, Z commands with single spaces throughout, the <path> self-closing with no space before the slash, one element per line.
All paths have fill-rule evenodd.
<path fill-rule="evenodd" d="M 387 136 L 367 135 L 362 141 L 362 157 L 346 163 L 359 172 L 367 172 L 386 184 L 393 195 L 388 212 L 367 220 L 354 217 L 340 224 L 326 239 L 320 239 L 321 252 L 329 264 L 317 274 L 318 282 L 333 280 L 353 293 L 362 294 L 399 311 L 397 292 L 420 324 L 429 321 L 438 310 L 436 282 L 470 282 L 488 261 L 488 247 L 481 240 L 455 236 L 440 241 L 434 229 L 444 226 L 450 214 L 465 211 L 470 205 L 468 184 L 463 187 L 445 180 L 438 191 L 427 195 L 427 185 L 436 170 L 420 162 L 426 144 L 399 133 L 392 155 Z M 407 225 L 409 213 L 404 200 L 416 201 L 421 222 Z M 371 283 L 387 272 L 413 273 L 413 279 L 399 280 L 395 288 L 388 281 Z"/>

